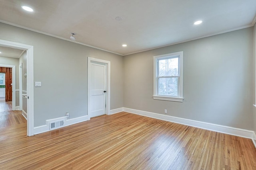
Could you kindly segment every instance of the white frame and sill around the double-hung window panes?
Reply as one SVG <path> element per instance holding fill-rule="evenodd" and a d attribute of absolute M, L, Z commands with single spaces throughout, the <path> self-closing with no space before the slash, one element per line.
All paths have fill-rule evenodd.
<path fill-rule="evenodd" d="M 158 60 L 171 58 L 171 57 L 179 57 L 179 76 L 178 76 L 178 97 L 174 96 L 162 96 L 158 95 Z M 175 76 L 176 77 L 176 76 Z M 176 53 L 169 53 L 164 55 L 156 55 L 154 56 L 154 94 L 153 99 L 155 100 L 167 100 L 174 102 L 183 102 L 183 51 L 179 51 Z"/>

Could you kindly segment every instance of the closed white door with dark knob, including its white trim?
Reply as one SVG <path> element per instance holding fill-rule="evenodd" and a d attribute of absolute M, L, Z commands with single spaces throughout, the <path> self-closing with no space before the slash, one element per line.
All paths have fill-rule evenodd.
<path fill-rule="evenodd" d="M 88 57 L 88 119 L 110 114 L 110 61 Z"/>

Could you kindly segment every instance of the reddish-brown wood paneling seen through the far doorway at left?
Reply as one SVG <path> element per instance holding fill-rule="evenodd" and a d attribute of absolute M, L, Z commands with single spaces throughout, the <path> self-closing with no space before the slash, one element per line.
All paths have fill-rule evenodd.
<path fill-rule="evenodd" d="M 5 101 L 12 101 L 12 68 L 0 67 L 0 72 L 5 73 Z"/>

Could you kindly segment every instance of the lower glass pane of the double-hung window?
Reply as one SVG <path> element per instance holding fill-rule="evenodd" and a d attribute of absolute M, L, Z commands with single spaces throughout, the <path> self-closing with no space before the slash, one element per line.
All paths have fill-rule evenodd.
<path fill-rule="evenodd" d="M 158 78 L 158 95 L 178 96 L 178 78 Z"/>

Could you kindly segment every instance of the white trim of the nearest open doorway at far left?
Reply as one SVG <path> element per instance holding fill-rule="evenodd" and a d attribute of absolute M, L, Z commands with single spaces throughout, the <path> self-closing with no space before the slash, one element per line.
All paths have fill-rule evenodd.
<path fill-rule="evenodd" d="M 0 45 L 14 49 L 27 50 L 27 135 L 34 135 L 34 65 L 33 65 L 33 46 L 15 43 L 0 39 Z M 14 82 L 12 82 L 14 84 Z M 22 89 L 20 89 L 22 91 Z M 14 91 L 15 92 L 15 91 Z"/>

